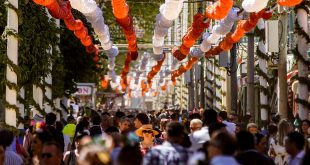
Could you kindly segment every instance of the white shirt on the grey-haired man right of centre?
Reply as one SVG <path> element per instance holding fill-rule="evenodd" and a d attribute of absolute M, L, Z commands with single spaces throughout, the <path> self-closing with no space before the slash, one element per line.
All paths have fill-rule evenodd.
<path fill-rule="evenodd" d="M 202 127 L 201 130 L 193 132 L 189 136 L 191 140 L 191 147 L 189 148 L 191 151 L 197 151 L 202 148 L 203 143 L 210 140 L 209 128 L 207 126 Z"/>

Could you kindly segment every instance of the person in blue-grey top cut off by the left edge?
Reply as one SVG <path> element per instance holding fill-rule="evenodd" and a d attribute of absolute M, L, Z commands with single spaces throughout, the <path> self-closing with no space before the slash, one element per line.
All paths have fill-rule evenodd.
<path fill-rule="evenodd" d="M 14 134 L 13 132 L 6 130 L 6 129 L 0 129 L 0 144 L 3 146 L 3 149 L 5 151 L 4 153 L 4 164 L 7 165 L 21 165 L 23 164 L 22 158 L 13 151 L 12 147 L 9 147 L 13 141 L 14 141 Z"/>

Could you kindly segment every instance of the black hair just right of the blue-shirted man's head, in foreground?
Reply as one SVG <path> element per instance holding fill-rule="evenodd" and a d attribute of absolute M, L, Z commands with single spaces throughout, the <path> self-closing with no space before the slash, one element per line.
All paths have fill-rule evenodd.
<path fill-rule="evenodd" d="M 236 137 L 239 150 L 246 151 L 254 149 L 255 142 L 253 134 L 248 131 L 240 131 Z"/>

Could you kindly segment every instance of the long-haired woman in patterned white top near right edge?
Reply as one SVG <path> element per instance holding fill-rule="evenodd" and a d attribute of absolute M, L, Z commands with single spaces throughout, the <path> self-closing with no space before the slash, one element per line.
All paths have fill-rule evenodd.
<path fill-rule="evenodd" d="M 274 157 L 276 165 L 288 164 L 288 154 L 285 151 L 285 137 L 293 131 L 292 125 L 285 119 L 278 124 L 278 133 L 275 139 L 270 139 L 269 156 Z"/>

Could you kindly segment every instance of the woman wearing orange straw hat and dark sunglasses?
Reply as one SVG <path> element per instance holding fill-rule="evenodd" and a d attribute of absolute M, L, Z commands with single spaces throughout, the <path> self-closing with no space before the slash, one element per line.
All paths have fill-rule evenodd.
<path fill-rule="evenodd" d="M 142 137 L 143 140 L 140 142 L 140 150 L 144 156 L 152 147 L 157 144 L 154 142 L 155 136 L 158 135 L 158 132 L 153 129 L 151 124 L 143 125 L 136 130 L 136 134 L 139 137 Z"/>

